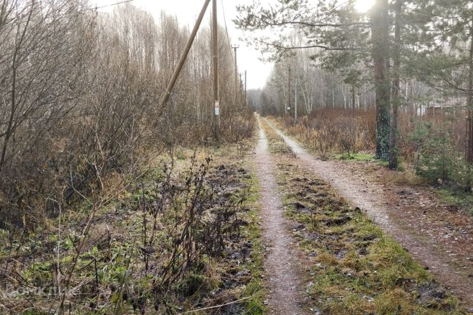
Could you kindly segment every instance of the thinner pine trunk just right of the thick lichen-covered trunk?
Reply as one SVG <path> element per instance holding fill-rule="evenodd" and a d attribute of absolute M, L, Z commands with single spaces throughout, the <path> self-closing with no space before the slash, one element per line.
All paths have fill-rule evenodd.
<path fill-rule="evenodd" d="M 391 139 L 389 142 L 389 168 L 398 168 L 399 149 L 397 147 L 398 137 L 398 110 L 401 106 L 399 91 L 401 90 L 401 14 L 404 0 L 396 0 L 396 17 L 394 21 L 394 47 L 393 47 L 393 111 L 391 115 Z"/>

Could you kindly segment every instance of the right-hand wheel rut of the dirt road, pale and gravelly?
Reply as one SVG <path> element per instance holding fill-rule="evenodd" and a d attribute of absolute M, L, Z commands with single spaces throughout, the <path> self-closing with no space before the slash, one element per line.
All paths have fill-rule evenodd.
<path fill-rule="evenodd" d="M 337 161 L 322 161 L 313 157 L 281 130 L 269 122 L 268 124 L 291 147 L 300 160 L 300 166 L 330 183 L 345 199 L 366 211 L 385 232 L 393 236 L 420 263 L 429 268 L 437 279 L 462 298 L 467 307 L 473 307 L 473 270 L 468 265 L 453 263 L 451 256 L 447 254 L 448 246 L 429 238 L 428 235 L 418 233 L 419 231 L 406 228 L 408 222 L 400 221 L 400 217 L 394 215 L 393 211 L 399 211 L 399 208 L 390 207 L 385 203 L 383 194 L 380 193 L 381 188 L 367 189 L 359 177 L 348 172 L 347 168 L 340 166 Z M 422 205 L 419 204 L 419 207 Z M 465 237 L 471 240 L 470 236 Z"/>

